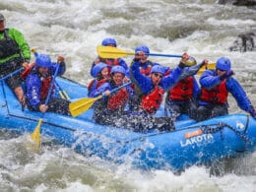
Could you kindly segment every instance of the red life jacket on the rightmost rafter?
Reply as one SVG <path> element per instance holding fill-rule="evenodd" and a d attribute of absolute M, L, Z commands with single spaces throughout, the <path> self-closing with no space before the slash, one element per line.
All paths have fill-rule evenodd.
<path fill-rule="evenodd" d="M 226 90 L 225 80 L 221 83 L 221 85 L 216 86 L 211 90 L 202 88 L 201 99 L 207 102 L 224 104 L 227 102 L 227 96 L 228 92 Z"/>

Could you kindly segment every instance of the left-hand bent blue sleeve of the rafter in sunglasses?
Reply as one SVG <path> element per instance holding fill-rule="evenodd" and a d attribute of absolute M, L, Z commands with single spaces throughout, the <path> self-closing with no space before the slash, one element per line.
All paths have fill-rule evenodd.
<path fill-rule="evenodd" d="M 132 82 L 142 91 L 144 95 L 149 94 L 153 90 L 154 85 L 150 77 L 147 77 L 140 72 L 140 62 L 134 60 L 130 70 Z"/>

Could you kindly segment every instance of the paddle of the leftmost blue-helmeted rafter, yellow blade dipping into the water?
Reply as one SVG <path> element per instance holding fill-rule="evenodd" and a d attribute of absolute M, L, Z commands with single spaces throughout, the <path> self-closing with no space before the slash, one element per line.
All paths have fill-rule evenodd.
<path fill-rule="evenodd" d="M 46 100 L 45 100 L 45 103 L 44 103 L 45 105 L 48 104 L 48 101 L 50 99 L 53 84 L 54 84 L 55 78 L 56 78 L 56 76 L 58 74 L 58 71 L 59 71 L 59 66 L 60 66 L 60 64 L 57 63 L 56 70 L 54 72 L 53 79 L 51 81 L 50 88 L 48 90 L 48 94 L 47 94 L 47 97 L 46 97 Z M 42 113 L 41 117 L 38 119 L 37 126 L 35 127 L 35 129 L 32 132 L 32 135 L 31 135 L 32 140 L 33 140 L 33 142 L 34 142 L 34 144 L 37 148 L 39 148 L 39 146 L 40 146 L 40 126 L 41 126 L 41 123 L 42 123 L 43 115 L 44 115 L 44 113 Z"/>

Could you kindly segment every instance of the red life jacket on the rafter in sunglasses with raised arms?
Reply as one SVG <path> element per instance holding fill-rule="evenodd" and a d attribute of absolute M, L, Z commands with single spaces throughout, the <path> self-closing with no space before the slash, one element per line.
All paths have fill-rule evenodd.
<path fill-rule="evenodd" d="M 156 113 L 160 108 L 163 95 L 164 90 L 156 86 L 149 95 L 142 96 L 141 108 L 150 114 Z"/>

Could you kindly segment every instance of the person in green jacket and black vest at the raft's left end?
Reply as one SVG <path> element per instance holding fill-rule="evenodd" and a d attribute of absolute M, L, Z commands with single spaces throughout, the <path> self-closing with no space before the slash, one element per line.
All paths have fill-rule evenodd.
<path fill-rule="evenodd" d="M 31 49 L 23 33 L 16 29 L 6 29 L 5 17 L 0 13 L 0 76 L 5 77 L 17 69 L 26 68 L 30 60 Z M 20 75 L 15 74 L 6 82 L 24 106 L 26 98 Z"/>

